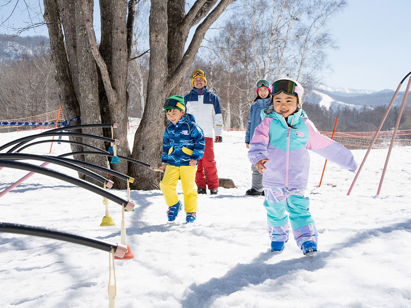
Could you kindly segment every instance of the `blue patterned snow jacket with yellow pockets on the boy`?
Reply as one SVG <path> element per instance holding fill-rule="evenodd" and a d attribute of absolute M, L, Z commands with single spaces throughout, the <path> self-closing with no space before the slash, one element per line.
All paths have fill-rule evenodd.
<path fill-rule="evenodd" d="M 190 160 L 204 155 L 204 134 L 194 116 L 186 113 L 177 123 L 169 121 L 164 131 L 161 161 L 172 166 L 189 166 Z"/>

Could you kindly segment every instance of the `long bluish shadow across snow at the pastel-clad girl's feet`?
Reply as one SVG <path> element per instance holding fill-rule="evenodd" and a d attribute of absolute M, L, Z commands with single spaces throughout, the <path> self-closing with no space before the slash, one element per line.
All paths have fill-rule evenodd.
<path fill-rule="evenodd" d="M 318 252 L 312 257 L 301 256 L 291 260 L 283 260 L 275 264 L 266 264 L 265 261 L 275 258 L 275 254 L 268 251 L 260 253 L 249 264 L 237 264 L 232 267 L 226 275 L 220 278 L 212 278 L 207 282 L 193 283 L 185 290 L 188 294 L 181 301 L 182 307 L 206 308 L 211 307 L 213 302 L 221 296 L 228 296 L 240 291 L 241 288 L 250 284 L 258 285 L 267 279 L 275 280 L 298 269 L 314 272 L 327 264 L 327 258 L 335 251 L 356 245 L 371 237 L 378 237 L 398 229 L 411 232 L 411 219 L 391 226 L 356 232 L 351 239 L 344 243 L 338 243 L 327 252 Z M 353 230 L 353 232 L 355 232 Z"/>

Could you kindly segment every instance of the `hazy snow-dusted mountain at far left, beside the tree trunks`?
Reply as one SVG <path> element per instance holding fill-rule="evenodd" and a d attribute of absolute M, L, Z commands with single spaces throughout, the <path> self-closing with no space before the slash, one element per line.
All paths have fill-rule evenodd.
<path fill-rule="evenodd" d="M 8 36 L 0 34 L 0 62 L 44 55 L 50 50 L 46 36 Z"/>

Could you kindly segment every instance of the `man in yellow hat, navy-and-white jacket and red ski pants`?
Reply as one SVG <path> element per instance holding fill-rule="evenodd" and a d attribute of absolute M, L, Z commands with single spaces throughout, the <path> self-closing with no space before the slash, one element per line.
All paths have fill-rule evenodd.
<path fill-rule="evenodd" d="M 207 88 L 204 72 L 197 69 L 192 74 L 193 89 L 185 95 L 184 103 L 187 112 L 194 115 L 196 123 L 204 132 L 206 149 L 204 156 L 198 161 L 196 184 L 198 194 L 207 194 L 207 186 L 211 195 L 218 193 L 218 175 L 214 160 L 214 142 L 222 142 L 222 114 L 220 101 L 216 94 Z M 204 175 L 204 169 L 206 174 Z"/>

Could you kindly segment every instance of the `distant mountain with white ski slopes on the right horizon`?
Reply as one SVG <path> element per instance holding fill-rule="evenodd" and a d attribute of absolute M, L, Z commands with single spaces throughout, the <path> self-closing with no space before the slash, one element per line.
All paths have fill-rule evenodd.
<path fill-rule="evenodd" d="M 380 105 L 388 106 L 394 93 L 394 90 L 388 89 L 372 91 L 321 87 L 309 91 L 305 96 L 304 102 L 318 104 L 327 109 L 332 108 L 333 110 L 346 107 L 350 109 L 361 109 L 364 106 L 374 108 Z M 398 93 L 393 104 L 394 106 L 401 105 L 404 93 L 404 91 Z M 408 95 L 407 102 L 410 100 L 411 96 Z"/>

